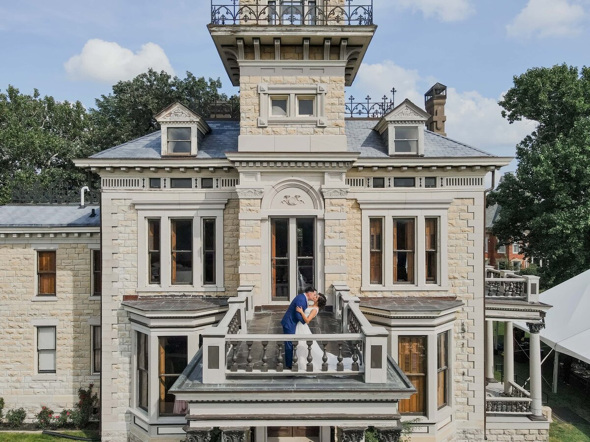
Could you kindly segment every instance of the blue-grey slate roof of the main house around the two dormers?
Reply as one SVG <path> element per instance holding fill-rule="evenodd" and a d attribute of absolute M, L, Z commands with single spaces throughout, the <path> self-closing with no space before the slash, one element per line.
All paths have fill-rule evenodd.
<path fill-rule="evenodd" d="M 388 149 L 379 133 L 373 128 L 377 119 L 346 120 L 346 136 L 348 151 L 359 152 L 360 158 L 388 158 Z M 199 143 L 197 159 L 225 159 L 225 154 L 238 151 L 240 121 L 207 120 L 211 132 Z M 91 159 L 160 159 L 160 131 L 120 144 L 111 149 L 103 150 L 91 156 Z M 451 138 L 443 137 L 434 132 L 424 130 L 424 157 L 427 158 L 468 158 L 487 157 L 494 155 Z"/>

